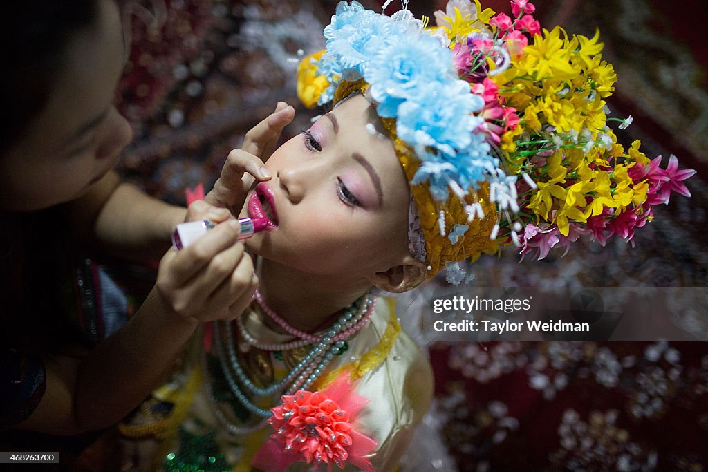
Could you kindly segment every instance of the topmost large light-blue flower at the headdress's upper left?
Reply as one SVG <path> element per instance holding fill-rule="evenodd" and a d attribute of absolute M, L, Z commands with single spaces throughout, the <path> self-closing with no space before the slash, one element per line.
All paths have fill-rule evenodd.
<path fill-rule="evenodd" d="M 340 2 L 331 23 L 324 28 L 327 51 L 341 66 L 342 78 L 355 81 L 362 77 L 363 64 L 381 47 L 386 38 L 400 34 L 403 25 L 389 16 L 365 10 L 356 1 Z"/>

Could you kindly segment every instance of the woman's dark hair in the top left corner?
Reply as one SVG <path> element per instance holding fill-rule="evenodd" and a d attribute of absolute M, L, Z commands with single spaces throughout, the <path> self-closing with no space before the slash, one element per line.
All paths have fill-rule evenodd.
<path fill-rule="evenodd" d="M 0 1 L 0 153 L 46 105 L 68 42 L 96 21 L 97 12 L 98 0 Z"/>

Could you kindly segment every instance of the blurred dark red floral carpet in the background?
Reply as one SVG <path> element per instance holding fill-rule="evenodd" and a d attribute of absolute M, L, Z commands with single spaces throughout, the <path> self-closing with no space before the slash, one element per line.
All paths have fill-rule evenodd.
<path fill-rule="evenodd" d="M 367 2 L 362 2 L 367 4 Z M 444 2 L 443 2 L 444 3 Z M 482 2 L 496 11 L 508 3 Z M 578 242 L 564 258 L 519 264 L 481 258 L 478 287 L 708 287 L 702 238 L 708 197 L 708 6 L 649 0 L 539 0 L 546 28 L 591 36 L 619 82 L 615 116 L 634 116 L 627 143 L 676 154 L 698 171 L 692 198 L 674 197 L 621 241 Z M 312 112 L 295 98 L 302 54 L 324 46 L 336 1 L 145 0 L 130 4 L 132 54 L 119 91 L 135 142 L 120 172 L 183 203 L 215 181 L 227 154 L 278 100 L 295 105 L 291 136 Z M 375 4 L 367 4 L 375 6 Z M 392 7 L 398 8 L 399 5 Z M 444 6 L 411 2 L 420 15 Z M 666 165 L 666 161 L 664 161 Z M 423 294 L 424 297 L 424 294 Z M 406 315 L 406 310 L 401 311 Z M 708 335 L 708 326 L 697 328 Z M 690 470 L 708 464 L 704 343 L 432 343 L 436 398 L 409 470 Z"/>

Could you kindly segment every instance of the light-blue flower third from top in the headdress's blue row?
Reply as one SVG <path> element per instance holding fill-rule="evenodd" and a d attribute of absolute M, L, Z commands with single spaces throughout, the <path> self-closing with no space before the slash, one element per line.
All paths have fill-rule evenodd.
<path fill-rule="evenodd" d="M 483 106 L 465 81 L 433 82 L 399 105 L 396 132 L 416 152 L 425 146 L 455 154 L 472 143 L 472 132 L 483 122 L 472 113 Z"/>

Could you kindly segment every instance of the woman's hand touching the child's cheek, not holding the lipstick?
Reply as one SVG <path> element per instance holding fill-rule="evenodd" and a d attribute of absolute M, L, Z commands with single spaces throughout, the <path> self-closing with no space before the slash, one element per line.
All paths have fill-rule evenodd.
<path fill-rule="evenodd" d="M 224 163 L 222 173 L 214 188 L 205 197 L 215 207 L 229 209 L 234 215 L 241 212 L 246 193 L 253 179 L 268 180 L 271 175 L 263 163 L 273 154 L 282 129 L 295 117 L 295 109 L 285 102 L 278 102 L 275 112 L 246 133 L 241 149 L 234 149 Z"/>

